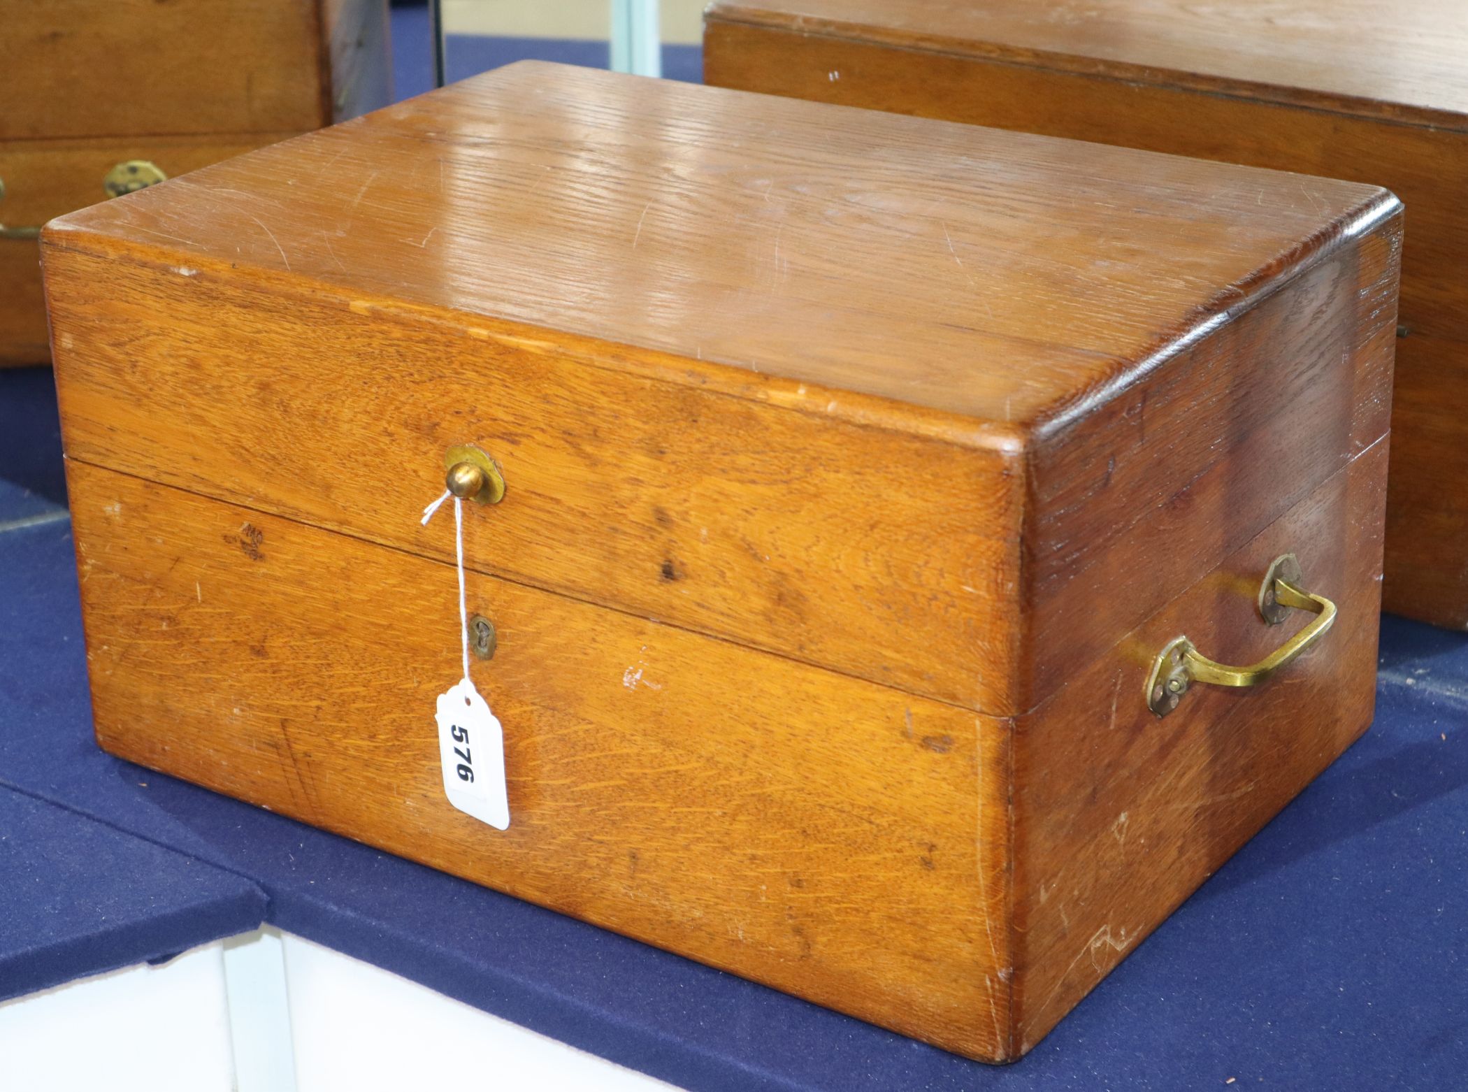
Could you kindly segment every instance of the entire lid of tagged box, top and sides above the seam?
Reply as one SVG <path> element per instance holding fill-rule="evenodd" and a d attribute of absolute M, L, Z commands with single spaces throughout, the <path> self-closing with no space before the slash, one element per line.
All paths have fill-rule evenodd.
<path fill-rule="evenodd" d="M 1390 330 L 1351 370 L 1399 210 L 523 63 L 44 248 L 72 458 L 442 553 L 415 512 L 445 446 L 496 437 L 471 568 L 1016 713 L 1381 436 Z M 1286 415 L 1317 404 L 1321 430 Z M 1233 467 L 1258 503 L 1166 509 Z"/>

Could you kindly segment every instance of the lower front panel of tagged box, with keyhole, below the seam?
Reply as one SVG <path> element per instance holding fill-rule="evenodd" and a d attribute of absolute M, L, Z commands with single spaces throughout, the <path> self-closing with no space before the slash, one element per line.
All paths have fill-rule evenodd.
<path fill-rule="evenodd" d="M 505 727 L 499 832 L 443 796 L 452 565 L 79 462 L 69 487 L 107 750 L 1007 1054 L 1007 722 L 471 572 L 498 630 L 473 675 Z M 490 521 L 471 511 L 468 542 Z"/>

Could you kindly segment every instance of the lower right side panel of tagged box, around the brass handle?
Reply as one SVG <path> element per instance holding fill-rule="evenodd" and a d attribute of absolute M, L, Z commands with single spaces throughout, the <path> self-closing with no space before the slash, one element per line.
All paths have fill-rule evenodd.
<path fill-rule="evenodd" d="M 1019 718 L 1014 738 L 1014 1020 L 1033 1046 L 1136 944 L 1371 722 L 1387 439 L 1295 505 L 1104 659 Z M 1186 634 L 1252 663 L 1299 631 L 1255 608 L 1274 558 L 1339 616 L 1254 690 L 1193 684 L 1158 719 L 1152 659 Z"/>

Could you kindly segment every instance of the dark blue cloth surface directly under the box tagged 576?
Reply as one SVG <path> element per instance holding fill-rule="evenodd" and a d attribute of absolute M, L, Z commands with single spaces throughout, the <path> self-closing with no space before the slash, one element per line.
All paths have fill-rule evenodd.
<path fill-rule="evenodd" d="M 1461 1088 L 1468 638 L 1389 618 L 1381 665 L 1365 738 L 992 1069 L 103 754 L 69 525 L 0 533 L 0 785 L 250 878 L 289 932 L 691 1089 Z"/>

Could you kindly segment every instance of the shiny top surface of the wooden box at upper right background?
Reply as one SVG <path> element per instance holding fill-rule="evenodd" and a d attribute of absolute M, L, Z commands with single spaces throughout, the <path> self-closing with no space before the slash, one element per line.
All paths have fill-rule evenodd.
<path fill-rule="evenodd" d="M 713 0 L 706 18 L 1468 129 L 1459 0 Z"/>

